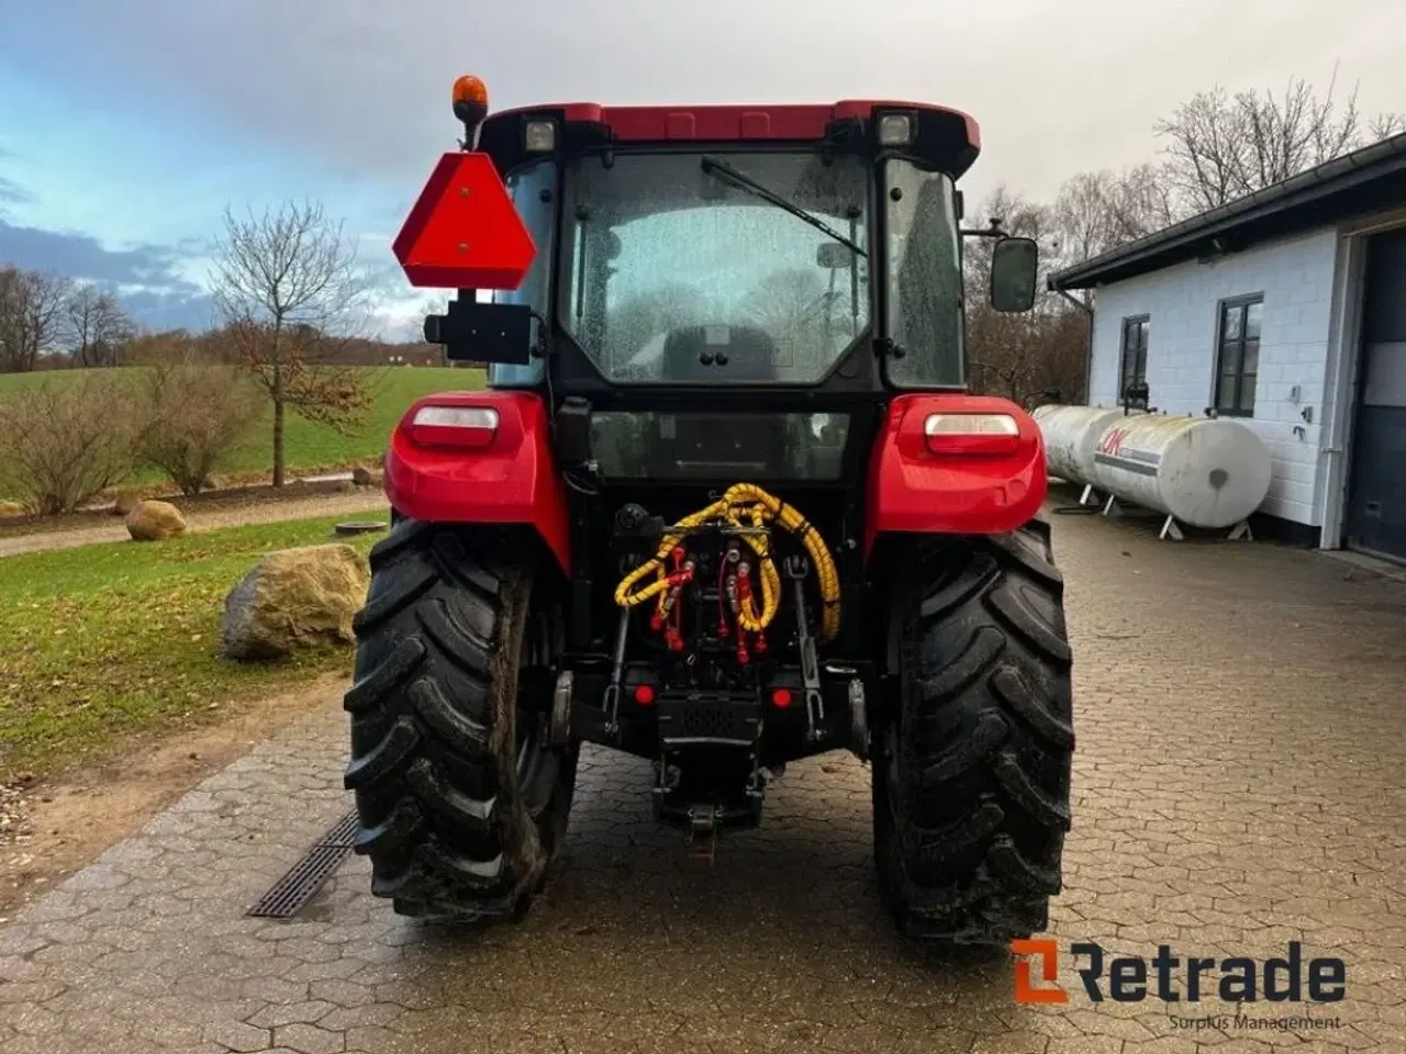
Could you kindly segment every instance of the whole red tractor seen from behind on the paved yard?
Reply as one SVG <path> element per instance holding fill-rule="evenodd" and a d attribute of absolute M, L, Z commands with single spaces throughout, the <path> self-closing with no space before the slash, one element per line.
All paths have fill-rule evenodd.
<path fill-rule="evenodd" d="M 789 762 L 870 763 L 908 933 L 1047 925 L 1074 746 L 1045 448 L 966 393 L 972 118 L 912 103 L 488 115 L 396 239 L 457 289 L 426 339 L 485 391 L 391 437 L 392 530 L 357 618 L 352 760 L 373 890 L 517 918 L 561 852 L 582 742 L 654 763 L 713 857 Z M 995 233 L 993 304 L 1036 247 Z M 488 295 L 491 291 L 491 295 Z M 485 297 L 479 297 L 485 292 Z"/>

